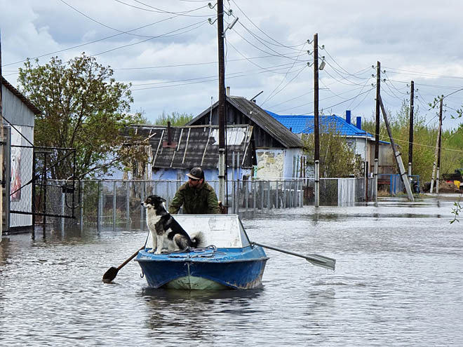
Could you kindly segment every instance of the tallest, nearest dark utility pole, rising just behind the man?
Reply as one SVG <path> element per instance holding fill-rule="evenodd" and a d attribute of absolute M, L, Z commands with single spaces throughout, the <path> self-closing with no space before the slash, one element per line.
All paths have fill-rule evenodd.
<path fill-rule="evenodd" d="M 224 4 L 217 0 L 217 46 L 219 61 L 219 200 L 225 201 L 225 57 Z"/>

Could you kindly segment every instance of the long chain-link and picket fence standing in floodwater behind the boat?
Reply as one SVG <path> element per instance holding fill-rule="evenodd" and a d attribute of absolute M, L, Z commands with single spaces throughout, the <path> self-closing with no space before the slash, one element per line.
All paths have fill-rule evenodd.
<path fill-rule="evenodd" d="M 49 180 L 46 189 L 48 212 L 72 215 L 74 218 L 47 217 L 36 219 L 36 224 L 137 226 L 145 222 L 142 200 L 156 194 L 166 199 L 168 207 L 183 183 L 160 180 L 86 180 L 81 181 L 79 189 L 73 192 L 63 189 L 63 181 Z M 218 191 L 218 181 L 208 183 Z M 314 186 L 314 179 L 310 178 L 229 181 L 227 198 L 223 203 L 229 206 L 229 213 L 235 214 L 314 205 Z M 373 192 L 373 179 L 320 179 L 320 205 L 354 205 L 373 200 Z"/>

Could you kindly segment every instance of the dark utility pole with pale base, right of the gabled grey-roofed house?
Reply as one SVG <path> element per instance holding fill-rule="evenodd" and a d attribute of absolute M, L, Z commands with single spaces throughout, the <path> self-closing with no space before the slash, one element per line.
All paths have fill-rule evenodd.
<path fill-rule="evenodd" d="M 314 169 L 315 207 L 320 205 L 320 133 L 318 126 L 318 33 L 314 34 Z"/>

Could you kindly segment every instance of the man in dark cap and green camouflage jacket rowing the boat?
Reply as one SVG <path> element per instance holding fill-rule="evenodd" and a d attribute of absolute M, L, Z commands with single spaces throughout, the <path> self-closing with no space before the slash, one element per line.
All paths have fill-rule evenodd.
<path fill-rule="evenodd" d="M 186 215 L 219 214 L 217 194 L 213 187 L 204 181 L 203 169 L 192 168 L 187 176 L 188 182 L 180 186 L 169 204 L 170 215 L 176 215 L 182 205 Z"/>

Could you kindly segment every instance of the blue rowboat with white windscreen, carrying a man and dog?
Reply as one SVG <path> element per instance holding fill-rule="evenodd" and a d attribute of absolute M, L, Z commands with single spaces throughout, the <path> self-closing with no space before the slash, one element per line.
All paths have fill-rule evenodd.
<path fill-rule="evenodd" d="M 267 255 L 250 242 L 238 215 L 175 215 L 189 234 L 201 232 L 199 248 L 154 254 L 135 261 L 149 287 L 182 290 L 252 289 L 262 285 Z M 151 243 L 147 242 L 147 245 Z"/>

